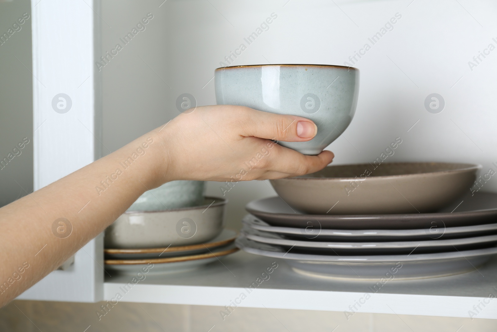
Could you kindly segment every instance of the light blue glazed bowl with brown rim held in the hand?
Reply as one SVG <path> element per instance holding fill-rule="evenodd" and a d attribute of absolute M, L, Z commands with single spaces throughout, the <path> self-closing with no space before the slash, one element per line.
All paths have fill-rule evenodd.
<path fill-rule="evenodd" d="M 279 142 L 316 155 L 347 128 L 355 113 L 359 70 L 330 65 L 253 65 L 215 70 L 216 102 L 313 120 L 308 142 Z"/>

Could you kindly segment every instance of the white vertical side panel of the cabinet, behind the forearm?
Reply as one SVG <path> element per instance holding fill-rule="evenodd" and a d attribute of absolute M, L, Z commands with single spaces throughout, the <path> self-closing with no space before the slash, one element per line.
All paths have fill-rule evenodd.
<path fill-rule="evenodd" d="M 32 1 L 34 189 L 99 156 L 95 111 L 94 27 L 99 1 Z M 95 115 L 97 114 L 97 115 Z M 82 203 L 82 207 L 84 202 Z M 95 302 L 103 294 L 102 236 L 19 299 Z"/>

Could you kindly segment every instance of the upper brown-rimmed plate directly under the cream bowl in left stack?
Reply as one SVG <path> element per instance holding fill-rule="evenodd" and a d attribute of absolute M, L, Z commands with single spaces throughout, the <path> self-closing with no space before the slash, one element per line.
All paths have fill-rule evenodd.
<path fill-rule="evenodd" d="M 221 234 L 209 242 L 162 248 L 104 249 L 106 259 L 147 259 L 195 255 L 209 252 L 235 241 L 238 234 L 231 229 L 223 229 Z"/>

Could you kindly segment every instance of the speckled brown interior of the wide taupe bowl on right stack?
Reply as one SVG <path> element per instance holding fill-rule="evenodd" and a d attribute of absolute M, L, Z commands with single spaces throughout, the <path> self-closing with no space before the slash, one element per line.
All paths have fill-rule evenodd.
<path fill-rule="evenodd" d="M 378 177 L 459 171 L 475 168 L 479 168 L 479 166 L 475 164 L 464 163 L 382 163 L 380 165 L 368 163 L 357 165 L 328 166 L 316 173 L 297 176 L 295 178 L 355 178 L 356 176 L 360 177 L 368 169 L 371 172 L 369 176 Z"/>

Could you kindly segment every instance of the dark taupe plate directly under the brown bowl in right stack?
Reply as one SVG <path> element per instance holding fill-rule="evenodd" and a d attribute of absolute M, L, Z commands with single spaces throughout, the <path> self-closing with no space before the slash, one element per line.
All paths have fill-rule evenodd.
<path fill-rule="evenodd" d="M 272 226 L 314 229 L 416 229 L 495 223 L 497 194 L 475 193 L 436 213 L 398 215 L 306 215 L 279 197 L 252 201 L 246 209 Z"/>

